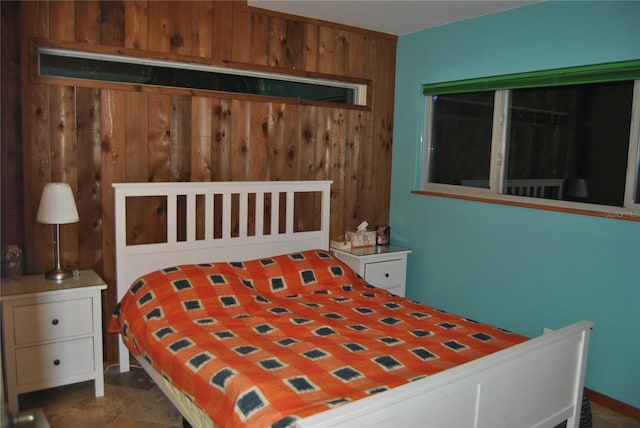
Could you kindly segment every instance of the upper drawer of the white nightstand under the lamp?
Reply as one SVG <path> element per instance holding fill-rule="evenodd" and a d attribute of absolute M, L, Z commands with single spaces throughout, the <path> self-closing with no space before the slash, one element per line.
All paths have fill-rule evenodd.
<path fill-rule="evenodd" d="M 89 298 L 17 306 L 13 320 L 16 345 L 93 333 Z"/>

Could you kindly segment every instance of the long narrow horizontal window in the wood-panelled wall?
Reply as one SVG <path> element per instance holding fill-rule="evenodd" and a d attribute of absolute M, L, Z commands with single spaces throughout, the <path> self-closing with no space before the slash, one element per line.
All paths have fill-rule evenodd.
<path fill-rule="evenodd" d="M 366 105 L 366 85 L 208 64 L 40 47 L 40 76 Z"/>

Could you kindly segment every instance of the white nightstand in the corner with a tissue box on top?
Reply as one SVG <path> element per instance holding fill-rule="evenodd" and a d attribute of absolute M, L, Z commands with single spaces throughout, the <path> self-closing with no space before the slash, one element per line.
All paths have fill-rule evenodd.
<path fill-rule="evenodd" d="M 331 248 L 331 251 L 369 284 L 404 297 L 407 255 L 411 250 L 393 245 L 376 245 L 342 250 Z"/>

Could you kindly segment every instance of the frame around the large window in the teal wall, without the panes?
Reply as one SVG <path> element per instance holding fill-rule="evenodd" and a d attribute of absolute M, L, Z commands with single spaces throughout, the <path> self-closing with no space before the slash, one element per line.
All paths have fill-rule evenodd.
<path fill-rule="evenodd" d="M 616 68 L 616 65 L 618 65 L 619 68 Z M 594 73 L 594 69 L 597 71 L 595 74 L 599 73 L 599 75 L 590 79 L 589 73 Z M 607 75 L 603 70 L 609 74 Z M 613 72 L 611 72 L 612 70 Z M 504 190 L 504 177 L 507 164 L 505 159 L 506 156 L 508 156 L 507 142 L 512 89 L 574 84 L 575 82 L 572 82 L 566 77 L 571 73 L 575 73 L 577 76 L 580 76 L 580 79 L 583 79 L 583 81 L 578 83 L 634 80 L 623 206 L 544 199 L 502 193 Z M 640 192 L 640 189 L 637 188 L 638 174 L 640 174 L 640 60 L 614 63 L 613 65 L 606 64 L 597 67 L 588 66 L 562 70 L 547 70 L 537 74 L 523 73 L 521 80 L 518 80 L 518 76 L 520 75 L 508 75 L 502 78 L 497 76 L 487 79 L 471 79 L 423 86 L 423 93 L 425 95 L 425 121 L 422 135 L 424 156 L 422 159 L 421 189 L 414 193 L 640 221 L 640 200 L 634 202 L 634 197 Z M 560 76 L 562 78 L 554 78 L 554 76 Z M 630 78 L 630 76 L 634 76 L 634 78 Z M 527 82 L 533 82 L 532 86 L 528 86 Z M 505 86 L 512 87 L 508 88 Z M 435 149 L 432 144 L 434 120 L 432 96 L 477 91 L 493 91 L 495 93 L 489 188 L 430 182 L 431 162 Z"/>

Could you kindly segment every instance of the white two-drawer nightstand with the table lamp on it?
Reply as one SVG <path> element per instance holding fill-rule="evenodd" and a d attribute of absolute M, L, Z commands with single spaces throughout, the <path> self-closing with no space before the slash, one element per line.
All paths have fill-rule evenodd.
<path fill-rule="evenodd" d="M 18 394 L 95 380 L 104 395 L 102 304 L 104 280 L 92 270 L 51 281 L 44 275 L 5 281 L 0 288 L 8 408 Z"/>

